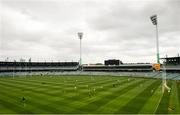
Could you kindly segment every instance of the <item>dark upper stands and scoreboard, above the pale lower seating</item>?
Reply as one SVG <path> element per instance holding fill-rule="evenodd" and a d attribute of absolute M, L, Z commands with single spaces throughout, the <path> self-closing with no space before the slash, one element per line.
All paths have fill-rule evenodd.
<path fill-rule="evenodd" d="M 160 71 L 180 72 L 180 57 L 161 58 L 164 64 Z M 104 65 L 79 65 L 79 62 L 0 62 L 0 72 L 152 72 L 155 64 L 123 64 L 120 60 L 105 60 Z"/>

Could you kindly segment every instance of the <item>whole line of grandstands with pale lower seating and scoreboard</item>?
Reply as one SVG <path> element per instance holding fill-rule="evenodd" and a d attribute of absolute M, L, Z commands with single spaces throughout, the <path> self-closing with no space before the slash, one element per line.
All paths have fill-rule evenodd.
<path fill-rule="evenodd" d="M 161 79 L 166 73 L 166 79 L 180 80 L 180 57 L 161 58 L 163 64 L 156 71 L 150 63 L 122 63 L 120 60 L 105 60 L 104 64 L 80 67 L 79 62 L 8 62 L 0 61 L 2 75 L 113 75 L 136 76 Z M 12 74 L 13 73 L 13 74 Z"/>

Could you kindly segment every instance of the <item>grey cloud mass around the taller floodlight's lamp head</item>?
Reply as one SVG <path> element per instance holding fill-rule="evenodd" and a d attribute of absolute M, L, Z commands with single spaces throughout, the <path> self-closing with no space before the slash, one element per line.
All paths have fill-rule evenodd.
<path fill-rule="evenodd" d="M 179 30 L 179 1 L 147 1 L 146 7 L 142 7 L 141 2 L 146 1 L 138 1 L 136 7 L 129 7 L 128 3 L 118 1 L 110 10 L 102 11 L 101 15 L 89 22 L 90 27 L 126 38 L 152 37 L 153 27 L 149 17 L 158 14 L 162 33 Z"/>

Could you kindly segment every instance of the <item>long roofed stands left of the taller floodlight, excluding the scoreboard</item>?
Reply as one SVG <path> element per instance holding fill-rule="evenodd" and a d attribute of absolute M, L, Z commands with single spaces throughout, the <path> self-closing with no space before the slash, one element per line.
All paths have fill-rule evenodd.
<path fill-rule="evenodd" d="M 118 62 L 119 63 L 119 62 Z M 78 62 L 0 62 L 0 72 L 26 71 L 102 71 L 131 72 L 153 71 L 152 64 L 121 64 L 121 65 L 83 65 Z"/>

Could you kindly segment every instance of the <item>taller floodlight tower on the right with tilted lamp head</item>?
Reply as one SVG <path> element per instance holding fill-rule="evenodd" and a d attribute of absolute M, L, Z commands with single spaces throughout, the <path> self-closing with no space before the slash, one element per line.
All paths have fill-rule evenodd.
<path fill-rule="evenodd" d="M 152 15 L 150 17 L 153 25 L 156 26 L 156 50 L 157 50 L 157 63 L 159 64 L 160 61 L 159 61 L 159 38 L 158 38 L 158 24 L 157 24 L 157 15 Z"/>

